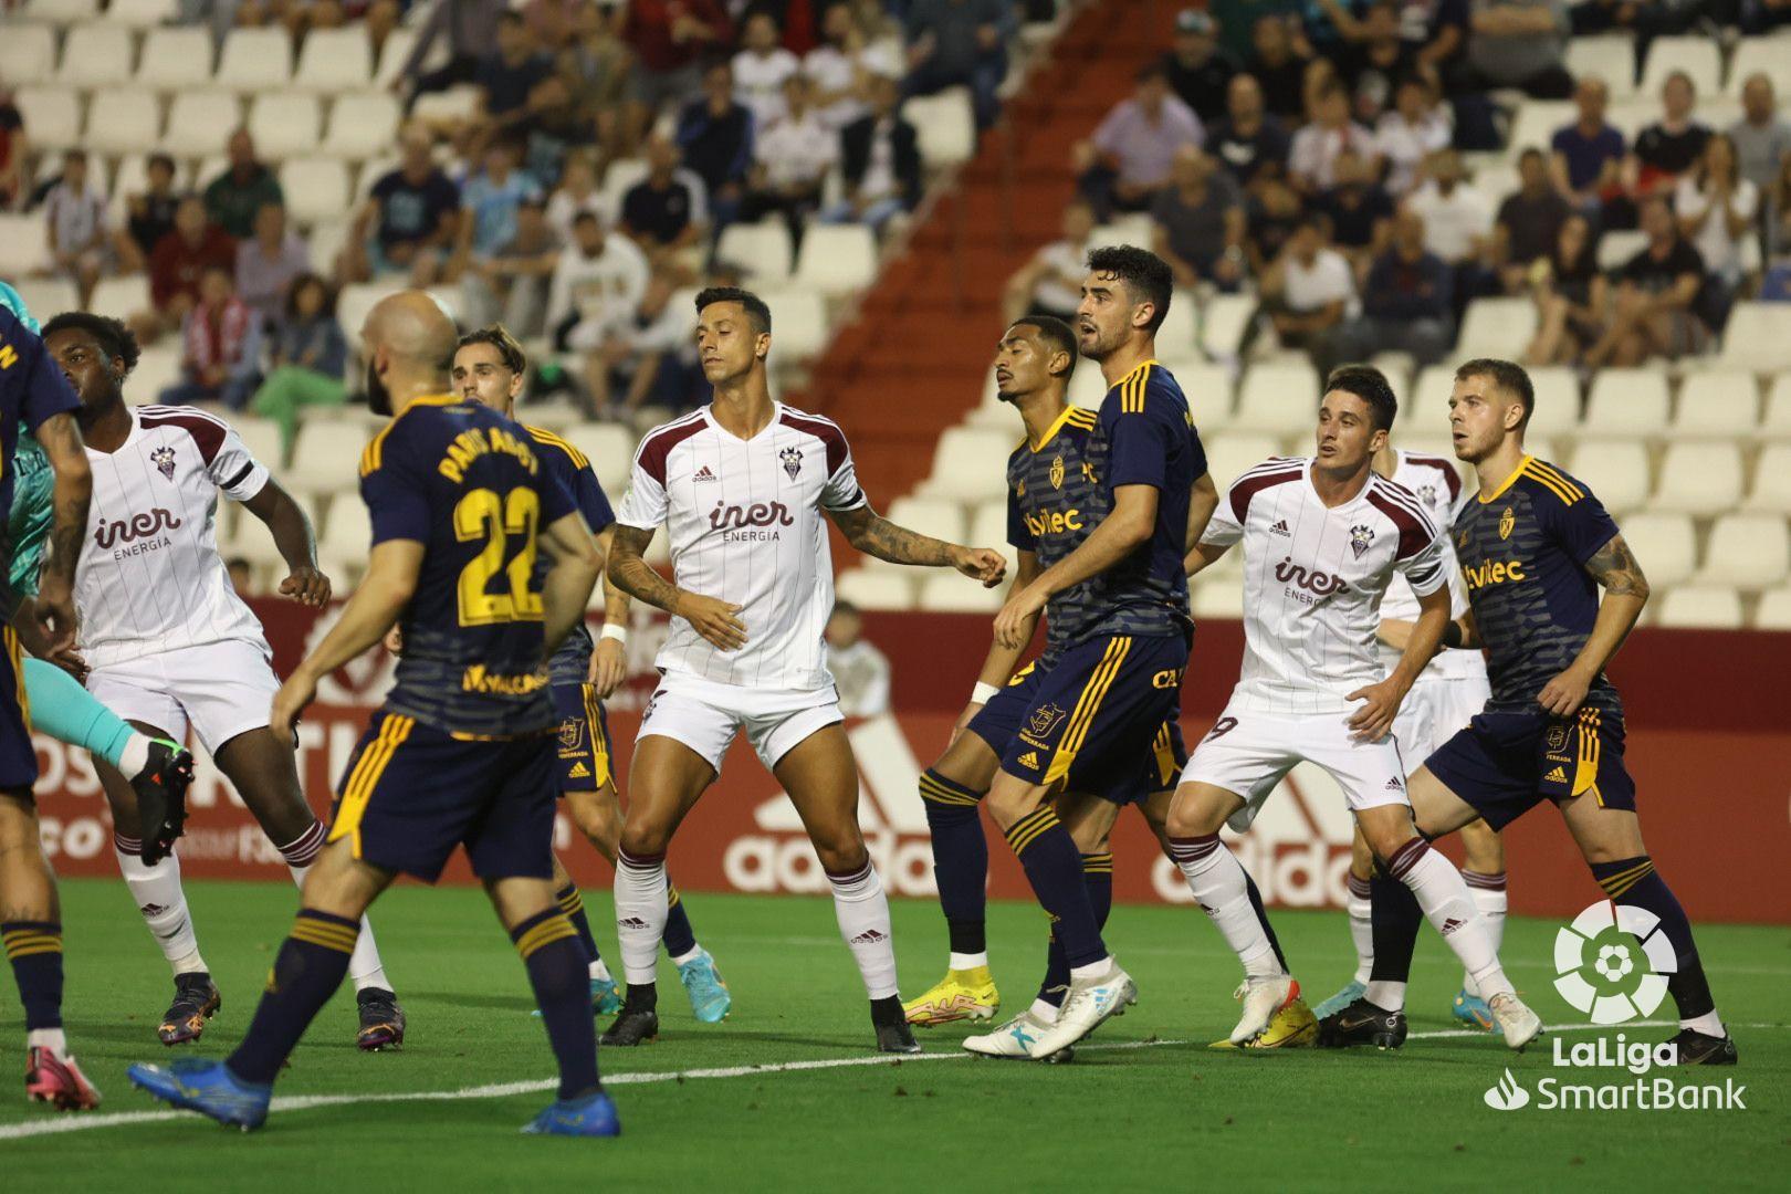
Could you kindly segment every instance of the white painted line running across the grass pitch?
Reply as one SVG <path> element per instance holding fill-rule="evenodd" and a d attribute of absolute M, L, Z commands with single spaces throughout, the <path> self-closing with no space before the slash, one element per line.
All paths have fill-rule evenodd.
<path fill-rule="evenodd" d="M 1605 1024 L 1547 1024 L 1544 1031 L 1547 1033 L 1581 1033 L 1596 1028 L 1671 1028 L 1678 1020 L 1635 1020 L 1623 1026 L 1605 1026 Z M 1787 1028 L 1786 1024 L 1737 1024 L 1734 1028 Z M 1408 1040 L 1440 1040 L 1451 1036 L 1490 1036 L 1490 1033 L 1481 1033 L 1474 1029 L 1427 1029 L 1420 1033 L 1411 1033 Z M 1096 1042 L 1087 1045 L 1076 1045 L 1078 1053 L 1094 1051 L 1137 1051 L 1137 1049 L 1173 1049 L 1178 1045 L 1193 1045 L 1191 1040 L 1114 1040 L 1114 1042 Z M 915 1053 L 904 1058 L 892 1058 L 883 1054 L 856 1056 L 856 1058 L 817 1058 L 811 1062 L 776 1062 L 772 1065 L 724 1065 L 715 1069 L 700 1070 L 657 1070 L 647 1074 L 609 1074 L 604 1078 L 605 1087 L 639 1087 L 647 1083 L 666 1083 L 666 1081 L 700 1081 L 709 1078 L 752 1078 L 756 1074 L 799 1074 L 804 1070 L 836 1070 L 836 1069 L 854 1069 L 863 1065 L 912 1065 L 915 1062 L 964 1062 L 973 1058 L 973 1053 Z M 410 1090 L 398 1094 L 296 1094 L 281 1096 L 274 1099 L 274 1112 L 308 1112 L 319 1106 L 356 1106 L 364 1103 L 458 1103 L 464 1099 L 507 1099 L 518 1094 L 539 1094 L 543 1090 L 553 1090 L 559 1083 L 544 1078 L 534 1081 L 509 1081 L 509 1083 L 491 1083 L 485 1087 L 462 1087 L 458 1090 Z M 56 1119 L 30 1119 L 20 1124 L 0 1126 L 0 1140 L 25 1140 L 30 1137 L 52 1137 L 66 1131 L 90 1131 L 93 1128 L 122 1128 L 129 1124 L 158 1124 L 170 1119 L 193 1119 L 193 1112 L 107 1112 L 104 1115 L 57 1115 Z"/>

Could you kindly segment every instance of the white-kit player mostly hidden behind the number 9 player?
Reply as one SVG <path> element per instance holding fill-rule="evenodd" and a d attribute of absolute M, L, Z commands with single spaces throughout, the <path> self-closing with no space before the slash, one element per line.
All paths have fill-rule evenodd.
<path fill-rule="evenodd" d="M 1461 567 L 1456 562 L 1454 544 L 1449 541 L 1449 526 L 1463 501 L 1474 494 L 1461 490 L 1461 474 L 1454 462 L 1442 456 L 1427 456 L 1415 451 L 1402 451 L 1392 446 L 1383 448 L 1374 458 L 1374 467 L 1381 476 L 1402 485 L 1417 496 L 1431 521 L 1444 530 L 1444 553 L 1447 557 L 1444 571 L 1449 576 L 1449 616 L 1461 618 L 1467 612 L 1467 589 L 1461 585 Z M 1381 601 L 1381 662 L 1392 671 L 1399 666 L 1411 623 L 1418 618 L 1418 598 L 1402 575 L 1393 576 Z M 1487 659 L 1479 652 L 1438 652 L 1436 657 L 1418 673 L 1406 702 L 1399 707 L 1393 721 L 1393 738 L 1399 752 L 1408 763 L 1429 759 L 1449 738 L 1467 727 L 1476 712 L 1487 707 L 1492 698 L 1492 686 L 1487 680 Z M 1474 895 L 1474 908 L 1487 918 L 1494 949 L 1504 936 L 1504 840 L 1487 827 L 1487 822 L 1470 822 L 1461 827 L 1461 879 L 1467 881 Z M 1383 879 L 1384 883 L 1384 879 Z M 1356 945 L 1356 974 L 1338 994 L 1313 1008 L 1313 1015 L 1324 1019 L 1356 1002 L 1374 977 L 1374 925 L 1370 924 L 1368 899 L 1374 884 L 1374 857 L 1361 831 L 1350 845 L 1349 866 L 1349 929 Z M 1479 997 L 1472 976 L 1463 974 L 1461 990 L 1454 997 L 1451 1015 L 1483 1031 L 1492 1031 L 1492 1010 Z"/>

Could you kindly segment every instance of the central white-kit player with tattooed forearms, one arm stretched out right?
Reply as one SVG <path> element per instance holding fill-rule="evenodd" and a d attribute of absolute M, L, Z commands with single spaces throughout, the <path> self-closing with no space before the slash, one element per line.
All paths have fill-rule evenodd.
<path fill-rule="evenodd" d="M 654 988 L 666 922 L 664 852 L 740 730 L 790 793 L 833 886 L 870 995 L 878 1049 L 919 1053 L 896 990 L 888 900 L 858 827 L 858 766 L 840 727 L 822 630 L 833 610 L 826 512 L 881 560 L 956 567 L 996 585 L 998 551 L 962 548 L 876 516 L 845 435 L 767 388 L 770 310 L 754 294 L 697 295 L 697 353 L 713 401 L 641 440 L 616 517 L 609 582 L 672 614 L 659 691 L 634 754 L 616 857 L 616 933 L 629 992 L 604 1044 L 659 1031 Z M 641 553 L 664 525 L 668 584 Z"/>

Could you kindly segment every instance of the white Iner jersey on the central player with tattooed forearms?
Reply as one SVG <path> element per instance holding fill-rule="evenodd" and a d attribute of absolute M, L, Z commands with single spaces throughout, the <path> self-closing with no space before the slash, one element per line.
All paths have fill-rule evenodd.
<path fill-rule="evenodd" d="M 861 505 L 845 433 L 783 403 L 750 440 L 724 431 L 707 406 L 648 433 L 616 521 L 664 525 L 673 584 L 740 605 L 747 625 L 747 644 L 724 652 L 673 618 L 656 666 L 749 687 L 829 686 L 833 559 L 822 510 Z"/>

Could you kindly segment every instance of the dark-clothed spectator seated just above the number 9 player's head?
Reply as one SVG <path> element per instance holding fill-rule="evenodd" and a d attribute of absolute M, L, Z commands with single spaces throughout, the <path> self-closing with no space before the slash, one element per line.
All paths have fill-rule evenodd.
<path fill-rule="evenodd" d="M 1454 342 L 1449 267 L 1424 247 L 1424 218 L 1401 211 L 1392 247 L 1374 260 L 1361 292 L 1361 319 L 1343 335 L 1345 360 L 1375 353 L 1410 353 L 1420 367 L 1435 365 Z"/>

